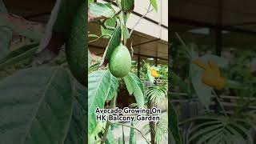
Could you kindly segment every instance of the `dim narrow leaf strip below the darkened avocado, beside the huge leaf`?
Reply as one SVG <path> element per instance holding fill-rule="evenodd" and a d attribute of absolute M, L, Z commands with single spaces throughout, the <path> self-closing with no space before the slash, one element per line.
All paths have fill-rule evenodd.
<path fill-rule="evenodd" d="M 66 136 L 65 144 L 86 143 L 86 95 L 87 90 L 73 78 L 74 82 L 74 106 L 70 128 Z"/>

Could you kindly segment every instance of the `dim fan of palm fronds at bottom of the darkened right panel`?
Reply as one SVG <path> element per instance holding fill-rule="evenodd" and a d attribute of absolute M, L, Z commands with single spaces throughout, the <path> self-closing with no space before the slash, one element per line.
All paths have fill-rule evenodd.
<path fill-rule="evenodd" d="M 196 118 L 194 122 L 186 143 L 253 143 L 250 128 L 254 128 L 254 124 L 246 119 L 211 115 Z"/>

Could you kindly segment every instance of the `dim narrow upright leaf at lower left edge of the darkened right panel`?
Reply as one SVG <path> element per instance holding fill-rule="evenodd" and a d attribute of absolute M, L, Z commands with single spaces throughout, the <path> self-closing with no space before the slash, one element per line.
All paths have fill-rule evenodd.
<path fill-rule="evenodd" d="M 168 127 L 170 130 L 170 133 L 174 138 L 175 144 L 182 144 L 182 138 L 178 130 L 178 115 L 172 103 L 169 103 L 168 111 L 169 111 L 168 119 L 170 121 Z"/>

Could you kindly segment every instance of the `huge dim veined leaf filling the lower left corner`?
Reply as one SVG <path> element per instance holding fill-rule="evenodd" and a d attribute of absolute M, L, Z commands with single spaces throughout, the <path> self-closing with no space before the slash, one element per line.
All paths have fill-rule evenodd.
<path fill-rule="evenodd" d="M 21 70 L 0 82 L 1 143 L 59 144 L 73 107 L 70 74 L 61 67 Z"/>

